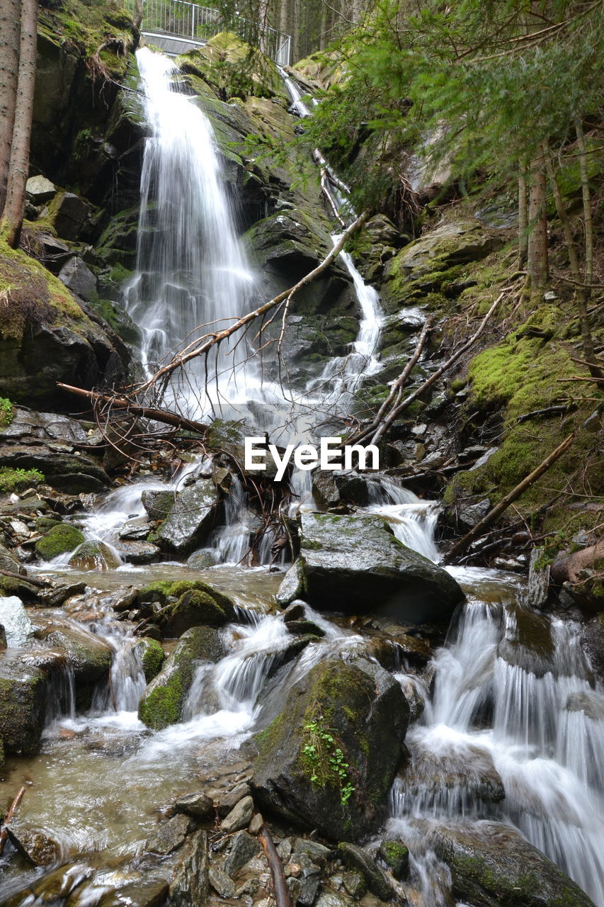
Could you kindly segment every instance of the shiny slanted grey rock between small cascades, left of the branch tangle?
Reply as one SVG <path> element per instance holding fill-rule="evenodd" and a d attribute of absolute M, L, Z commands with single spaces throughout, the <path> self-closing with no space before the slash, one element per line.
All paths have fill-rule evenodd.
<path fill-rule="evenodd" d="M 211 479 L 186 485 L 157 530 L 157 541 L 169 551 L 180 553 L 198 548 L 212 528 L 215 503 L 216 488 Z"/>

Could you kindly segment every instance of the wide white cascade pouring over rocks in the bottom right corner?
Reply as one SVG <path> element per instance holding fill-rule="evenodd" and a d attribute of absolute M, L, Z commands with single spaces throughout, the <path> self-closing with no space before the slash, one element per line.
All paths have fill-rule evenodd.
<path fill-rule="evenodd" d="M 604 695 L 579 639 L 511 600 L 467 605 L 407 735 L 392 822 L 410 839 L 411 818 L 508 822 L 602 905 Z"/>

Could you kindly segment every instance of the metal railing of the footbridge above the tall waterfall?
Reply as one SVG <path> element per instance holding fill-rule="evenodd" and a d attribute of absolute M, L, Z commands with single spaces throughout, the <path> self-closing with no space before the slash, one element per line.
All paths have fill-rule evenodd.
<path fill-rule="evenodd" d="M 135 0 L 124 0 L 124 6 L 133 13 Z M 260 27 L 240 16 L 224 19 L 219 10 L 188 0 L 143 0 L 142 8 L 143 33 L 160 32 L 205 44 L 215 34 L 233 32 L 242 41 L 258 45 L 278 66 L 289 64 L 291 38 L 275 28 Z"/>

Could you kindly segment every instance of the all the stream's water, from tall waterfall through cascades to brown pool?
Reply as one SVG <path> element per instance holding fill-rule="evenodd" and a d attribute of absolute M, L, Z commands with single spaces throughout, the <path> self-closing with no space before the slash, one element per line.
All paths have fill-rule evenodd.
<path fill-rule="evenodd" d="M 141 177 L 137 270 L 125 301 L 141 327 L 141 366 L 150 375 L 170 350 L 190 343 L 200 326 L 218 329 L 248 311 L 256 290 L 208 118 L 187 94 L 174 90 L 174 63 L 147 49 L 137 58 L 151 137 Z M 307 116 L 297 84 L 282 75 L 298 114 Z M 299 418 L 292 419 L 291 429 L 297 439 L 305 436 L 314 408 L 332 407 L 335 416 L 346 412 L 362 381 L 377 368 L 379 297 L 365 285 L 352 258 L 343 253 L 342 260 L 360 309 L 358 334 L 348 355 L 334 356 L 297 395 Z M 243 343 L 221 347 L 212 366 L 213 384 L 206 384 L 199 366 L 187 385 L 170 389 L 168 399 L 196 418 L 212 411 L 257 416 L 255 405 L 265 405 L 272 415 L 260 420 L 262 430 L 277 428 L 289 401 L 276 383 L 259 374 L 252 352 Z M 279 436 L 280 443 L 284 437 Z M 171 484 L 146 476 L 107 495 L 84 518 L 87 537 L 113 546 L 121 561 L 116 570 L 80 574 L 68 566 L 67 556 L 41 568 L 44 575 L 83 578 L 88 589 L 78 593 L 69 620 L 112 651 L 110 682 L 95 687 L 85 709 L 77 704 L 73 666 L 54 678 L 42 754 L 8 760 L 10 771 L 32 783 L 24 804 L 27 822 L 57 843 L 54 865 L 69 864 L 63 882 L 68 873 L 97 880 L 90 899 L 74 905 L 105 903 L 112 879 L 102 875 L 100 865 L 133 865 L 144 873 L 145 841 L 170 802 L 194 785 L 215 794 L 226 780 L 245 781 L 252 735 L 268 727 L 297 681 L 323 659 L 346 661 L 368 645 L 362 627 L 327 619 L 303 603 L 301 619 L 314 625 L 317 635 L 300 651 L 292 649 L 295 638 L 273 607 L 281 576 L 262 566 L 240 566 L 253 514 L 237 478 L 222 523 L 208 542 L 216 566 L 202 571 L 170 561 L 133 566 L 120 554 L 123 524 L 144 515 L 141 493 L 176 492 L 199 468 L 199 460 L 186 464 Z M 312 510 L 310 473 L 298 472 L 292 483 L 298 494 L 293 512 Z M 359 510 L 384 519 L 399 541 L 428 561 L 440 561 L 440 503 L 421 499 L 382 474 L 370 474 L 366 486 L 368 503 Z M 271 559 L 272 541 L 267 534 L 261 564 Z M 448 571 L 462 585 L 467 603 L 423 672 L 403 656 L 395 669 L 401 687 L 413 691 L 417 714 L 405 738 L 409 759 L 390 794 L 386 832 L 409 847 L 417 903 L 453 903 L 451 875 L 430 844 L 433 825 L 461 822 L 480 828 L 499 822 L 518 830 L 604 907 L 604 691 L 580 650 L 576 628 L 533 614 L 524 601 L 523 582 L 511 573 Z M 140 640 L 131 621 L 103 604 L 102 594 L 111 597 L 114 587 L 130 581 L 141 586 L 175 577 L 213 583 L 232 596 L 236 607 L 233 619 L 219 629 L 219 657 L 194 665 L 180 722 L 154 731 L 138 716 L 147 687 Z M 32 633 L 22 611 L 15 609 L 8 630 L 25 653 Z M 0 789 L 6 792 L 5 782 Z M 50 903 L 25 891 L 40 872 L 3 860 L 0 904 Z M 72 901 L 53 903 L 67 907 Z"/>

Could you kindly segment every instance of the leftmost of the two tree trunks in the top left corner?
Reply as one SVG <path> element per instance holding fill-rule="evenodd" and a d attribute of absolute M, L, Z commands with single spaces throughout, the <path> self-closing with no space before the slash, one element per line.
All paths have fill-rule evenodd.
<path fill-rule="evenodd" d="M 19 72 L 20 0 L 0 0 L 0 214 L 5 207 Z"/>

